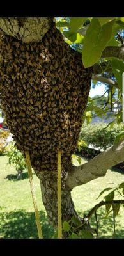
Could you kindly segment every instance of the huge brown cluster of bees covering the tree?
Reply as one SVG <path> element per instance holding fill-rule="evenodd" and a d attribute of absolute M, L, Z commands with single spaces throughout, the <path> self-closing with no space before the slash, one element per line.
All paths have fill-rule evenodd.
<path fill-rule="evenodd" d="M 1 103 L 17 148 L 29 150 L 38 172 L 56 172 L 60 150 L 65 168 L 77 147 L 91 68 L 84 69 L 54 23 L 41 42 L 3 36 L 0 48 Z"/>

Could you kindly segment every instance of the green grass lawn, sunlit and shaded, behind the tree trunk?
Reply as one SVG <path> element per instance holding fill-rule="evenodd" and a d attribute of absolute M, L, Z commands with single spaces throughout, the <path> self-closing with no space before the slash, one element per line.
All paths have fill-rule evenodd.
<path fill-rule="evenodd" d="M 7 156 L 0 156 L 0 238 L 38 238 L 27 172 L 23 173 L 22 180 L 16 180 L 15 168 L 7 165 L 7 161 Z M 85 163 L 85 161 L 82 159 L 82 163 Z M 74 164 L 78 165 L 75 159 Z M 54 230 L 48 223 L 45 207 L 41 200 L 40 182 L 35 174 L 33 179 L 43 237 L 50 238 L 54 234 Z M 88 184 L 74 188 L 72 198 L 75 209 L 83 216 L 102 200 L 104 196 L 96 200 L 100 191 L 121 182 L 124 182 L 123 172 L 107 170 L 105 177 L 100 177 Z M 98 209 L 98 237 L 111 238 L 113 232 L 112 214 L 107 219 L 104 217 L 105 207 L 101 207 Z M 91 219 L 91 227 L 95 227 L 94 217 Z M 120 209 L 120 214 L 116 216 L 116 238 L 124 238 L 123 207 Z"/>

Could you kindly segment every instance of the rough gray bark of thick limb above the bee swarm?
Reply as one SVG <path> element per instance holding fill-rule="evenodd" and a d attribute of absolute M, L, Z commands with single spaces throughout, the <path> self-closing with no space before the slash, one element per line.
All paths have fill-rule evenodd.
<path fill-rule="evenodd" d="M 1 33 L 14 36 L 25 43 L 39 42 L 50 28 L 52 18 L 0 18 Z"/>

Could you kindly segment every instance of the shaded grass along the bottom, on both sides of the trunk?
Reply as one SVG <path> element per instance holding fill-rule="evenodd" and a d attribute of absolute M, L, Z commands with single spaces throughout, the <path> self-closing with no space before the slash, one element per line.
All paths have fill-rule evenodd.
<path fill-rule="evenodd" d="M 82 215 L 82 212 L 78 212 Z M 88 211 L 84 212 L 88 214 Z M 112 238 L 113 234 L 113 219 L 112 215 L 105 217 L 105 209 L 101 209 L 97 212 L 98 218 L 98 238 Z M 121 216 L 118 218 L 121 219 Z M 40 221 L 42 224 L 42 233 L 44 238 L 52 238 L 54 234 L 54 228 L 49 224 L 48 218 L 45 212 L 40 211 Z M 95 216 L 93 215 L 90 221 L 91 227 L 96 228 Z M 38 238 L 36 229 L 35 213 L 26 212 L 24 210 L 13 211 L 13 212 L 1 212 L 0 213 L 0 238 Z M 124 228 L 121 227 L 119 221 L 116 220 L 116 239 L 124 238 Z"/>

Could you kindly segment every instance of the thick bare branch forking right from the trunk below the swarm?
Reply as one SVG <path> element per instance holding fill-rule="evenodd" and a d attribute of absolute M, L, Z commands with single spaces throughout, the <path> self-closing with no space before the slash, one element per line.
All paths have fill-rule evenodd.
<path fill-rule="evenodd" d="M 89 160 L 88 163 L 82 164 L 81 166 L 70 164 L 66 174 L 66 184 L 70 189 L 86 184 L 91 180 L 104 176 L 107 169 L 123 161 L 124 140 L 107 148 L 104 152 Z"/>

